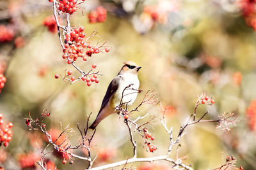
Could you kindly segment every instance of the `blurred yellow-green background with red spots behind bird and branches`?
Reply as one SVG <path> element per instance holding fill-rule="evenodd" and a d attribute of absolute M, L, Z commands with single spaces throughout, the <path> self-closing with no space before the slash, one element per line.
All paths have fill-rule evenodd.
<path fill-rule="evenodd" d="M 56 29 L 45 27 L 52 15 L 48 0 L 6 0 L 0 2 L 0 71 L 6 77 L 0 94 L 0 112 L 4 124 L 13 123 L 13 136 L 8 147 L 0 146 L 0 166 L 4 169 L 40 169 L 36 145 L 44 147 L 42 133 L 29 131 L 24 118 L 36 118 L 43 110 L 51 112 L 47 128 L 61 131 L 70 124 L 76 132 L 71 141 L 79 140 L 76 124 L 85 126 L 97 116 L 109 82 L 124 61 L 132 60 L 142 67 L 136 104 L 147 90 L 155 90 L 164 107 L 168 127 L 175 135 L 193 113 L 198 96 L 205 92 L 215 99 L 212 106 L 199 106 L 198 117 L 209 110 L 207 118 L 236 113 L 239 123 L 231 132 L 216 129 L 214 123 L 196 124 L 186 130 L 180 141 L 180 157 L 194 169 L 214 169 L 225 163 L 228 155 L 237 159 L 237 167 L 256 169 L 256 11 L 253 0 L 86 0 L 72 14 L 72 26 L 83 25 L 86 36 L 97 27 L 102 42 L 110 51 L 88 57 L 77 66 L 89 70 L 97 64 L 99 83 L 87 87 L 83 81 L 70 85 L 55 74 L 65 69 L 79 74 L 62 59 L 62 48 Z M 98 6 L 108 11 L 104 23 L 92 23 L 86 13 Z M 62 18 L 63 17 L 63 18 Z M 62 23 L 65 24 L 64 16 Z M 99 39 L 95 38 L 95 42 Z M 156 115 L 156 126 L 148 127 L 156 137 L 157 151 L 150 153 L 138 142 L 138 157 L 153 157 L 167 152 L 169 138 L 160 124 L 161 111 L 145 105 L 132 118 L 146 113 Z M 94 166 L 132 157 L 132 145 L 123 119 L 111 115 L 97 127 L 92 154 L 99 153 Z M 51 150 L 51 148 L 49 148 Z M 86 155 L 85 152 L 78 152 Z M 173 148 L 172 158 L 175 158 Z M 47 157 L 58 169 L 85 169 L 86 162 L 61 164 L 58 155 Z M 168 162 L 132 164 L 137 169 L 171 169 Z M 122 169 L 118 167 L 116 169 Z"/>

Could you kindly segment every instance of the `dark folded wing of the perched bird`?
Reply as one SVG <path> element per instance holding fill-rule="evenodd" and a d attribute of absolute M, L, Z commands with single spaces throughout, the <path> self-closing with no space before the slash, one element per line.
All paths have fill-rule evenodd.
<path fill-rule="evenodd" d="M 101 107 L 100 107 L 100 112 L 102 111 L 102 109 L 106 106 L 106 104 L 108 104 L 108 101 L 110 99 L 110 97 L 116 92 L 116 90 L 118 89 L 118 85 L 119 85 L 119 81 L 122 78 L 122 76 L 118 75 L 116 76 L 111 83 L 108 86 L 108 90 L 103 98 L 103 101 L 101 103 Z M 99 116 L 99 114 L 97 115 L 97 117 Z"/>

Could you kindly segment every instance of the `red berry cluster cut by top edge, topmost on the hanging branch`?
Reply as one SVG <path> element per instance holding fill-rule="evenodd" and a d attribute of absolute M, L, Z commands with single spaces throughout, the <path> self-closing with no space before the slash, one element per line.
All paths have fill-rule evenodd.
<path fill-rule="evenodd" d="M 71 15 L 77 10 L 77 0 L 59 0 L 58 10 Z"/>

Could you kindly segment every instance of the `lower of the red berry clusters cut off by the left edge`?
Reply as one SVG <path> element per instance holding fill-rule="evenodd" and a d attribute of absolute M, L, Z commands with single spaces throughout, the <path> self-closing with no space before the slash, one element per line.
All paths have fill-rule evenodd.
<path fill-rule="evenodd" d="M 3 114 L 0 113 L 0 146 L 8 146 L 9 142 L 12 140 L 12 127 L 13 124 L 12 122 L 9 122 L 6 126 L 3 125 L 4 120 L 3 120 Z"/>

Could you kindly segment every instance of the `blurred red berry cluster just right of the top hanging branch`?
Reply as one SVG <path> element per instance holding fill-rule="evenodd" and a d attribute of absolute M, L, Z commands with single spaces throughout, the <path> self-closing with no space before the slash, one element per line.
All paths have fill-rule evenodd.
<path fill-rule="evenodd" d="M 92 24 L 96 22 L 104 22 L 107 18 L 107 11 L 102 6 L 99 6 L 97 10 L 88 13 L 88 18 L 89 22 Z"/>

